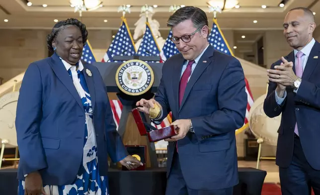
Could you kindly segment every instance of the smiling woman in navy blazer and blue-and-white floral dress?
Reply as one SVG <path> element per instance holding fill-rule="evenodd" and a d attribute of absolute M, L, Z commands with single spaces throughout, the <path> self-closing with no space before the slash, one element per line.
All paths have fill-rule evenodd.
<path fill-rule="evenodd" d="M 108 195 L 108 154 L 128 169 L 101 75 L 82 64 L 87 30 L 77 19 L 56 23 L 54 54 L 27 68 L 17 104 L 18 195 Z"/>

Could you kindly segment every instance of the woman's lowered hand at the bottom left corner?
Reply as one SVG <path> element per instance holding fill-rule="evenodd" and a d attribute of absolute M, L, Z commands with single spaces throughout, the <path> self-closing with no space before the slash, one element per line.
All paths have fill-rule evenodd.
<path fill-rule="evenodd" d="M 44 192 L 42 178 L 39 172 L 29 173 L 25 178 L 24 195 L 47 195 Z"/>

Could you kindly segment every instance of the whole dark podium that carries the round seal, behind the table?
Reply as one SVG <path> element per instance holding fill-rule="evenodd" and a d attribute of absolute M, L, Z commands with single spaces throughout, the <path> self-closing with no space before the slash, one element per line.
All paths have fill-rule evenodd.
<path fill-rule="evenodd" d="M 157 154 L 154 143 L 150 143 L 147 136 L 141 136 L 133 118 L 131 110 L 136 107 L 136 102 L 141 98 L 150 99 L 153 98 L 158 90 L 161 79 L 161 69 L 163 63 L 148 63 L 154 73 L 154 82 L 150 90 L 139 96 L 132 96 L 123 93 L 119 90 L 116 84 L 116 74 L 118 68 L 128 60 L 142 60 L 142 61 L 160 61 L 160 57 L 157 56 L 114 56 L 114 60 L 123 62 L 94 62 L 93 66 L 99 70 L 105 86 L 107 87 L 108 96 L 110 99 L 116 97 L 123 105 L 118 133 L 122 138 L 124 145 L 145 145 L 147 147 L 146 154 L 146 166 L 147 168 L 157 168 Z M 114 162 L 113 162 L 114 163 Z M 110 167 L 121 167 L 119 164 L 111 164 Z"/>

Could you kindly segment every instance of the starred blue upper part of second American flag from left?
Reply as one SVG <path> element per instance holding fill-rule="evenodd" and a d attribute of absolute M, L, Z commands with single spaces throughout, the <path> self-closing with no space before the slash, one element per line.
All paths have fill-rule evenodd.
<path fill-rule="evenodd" d="M 113 56 L 136 55 L 136 46 L 130 33 L 126 18 L 122 17 L 122 25 L 104 54 L 102 62 L 116 62 Z"/>

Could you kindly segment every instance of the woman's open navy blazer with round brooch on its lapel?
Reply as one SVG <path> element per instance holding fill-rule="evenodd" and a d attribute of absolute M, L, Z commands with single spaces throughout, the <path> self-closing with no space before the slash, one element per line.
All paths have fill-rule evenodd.
<path fill-rule="evenodd" d="M 101 176 L 113 162 L 128 155 L 116 125 L 106 87 L 95 66 L 83 64 L 91 96 L 93 125 Z M 92 73 L 89 77 L 85 70 Z M 56 54 L 31 63 L 20 88 L 16 110 L 20 152 L 18 179 L 39 171 L 44 185 L 68 185 L 82 163 L 85 114 L 80 96 L 64 64 Z"/>

